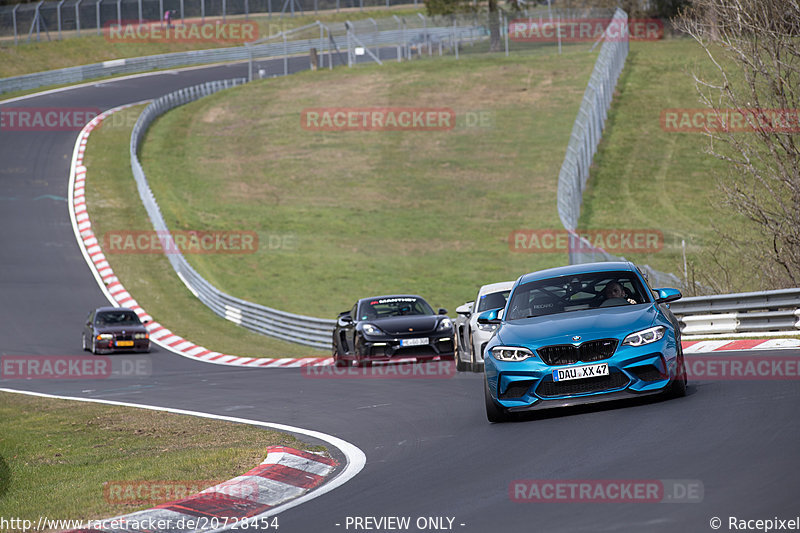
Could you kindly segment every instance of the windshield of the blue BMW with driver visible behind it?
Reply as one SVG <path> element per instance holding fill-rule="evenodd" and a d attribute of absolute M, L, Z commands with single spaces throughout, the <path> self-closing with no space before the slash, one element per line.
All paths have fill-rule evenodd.
<path fill-rule="evenodd" d="M 589 272 L 520 285 L 511 296 L 506 320 L 647 302 L 648 291 L 635 273 Z"/>

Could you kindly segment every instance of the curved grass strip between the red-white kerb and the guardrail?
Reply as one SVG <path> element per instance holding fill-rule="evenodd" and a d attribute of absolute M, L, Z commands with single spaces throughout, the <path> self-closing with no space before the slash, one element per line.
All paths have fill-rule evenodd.
<path fill-rule="evenodd" d="M 98 238 L 111 230 L 152 231 L 130 168 L 128 145 L 144 106 L 123 110 L 94 130 L 86 150 L 86 199 Z M 159 199 L 160 200 L 160 199 Z M 252 333 L 215 315 L 183 285 L 158 253 L 106 257 L 114 273 L 155 320 L 192 342 L 218 352 L 250 357 L 307 357 L 324 352 Z M 249 273 L 252 275 L 252 273 Z"/>

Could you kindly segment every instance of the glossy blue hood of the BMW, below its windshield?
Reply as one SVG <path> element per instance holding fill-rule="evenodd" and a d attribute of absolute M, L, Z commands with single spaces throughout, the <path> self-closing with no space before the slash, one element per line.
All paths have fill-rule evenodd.
<path fill-rule="evenodd" d="M 622 339 L 629 333 L 652 326 L 657 315 L 658 310 L 653 304 L 570 311 L 503 322 L 496 338 L 502 344 L 529 348 L 549 344 L 573 344 L 574 335 L 582 337 L 580 342 Z"/>

